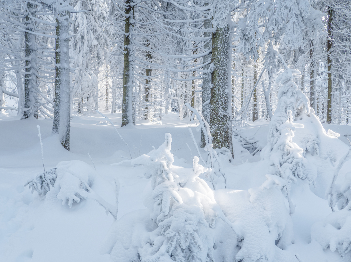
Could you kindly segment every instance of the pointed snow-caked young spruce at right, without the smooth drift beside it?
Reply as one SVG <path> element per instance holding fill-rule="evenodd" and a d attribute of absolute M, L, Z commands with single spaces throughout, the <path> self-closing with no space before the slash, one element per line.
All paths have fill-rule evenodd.
<path fill-rule="evenodd" d="M 296 128 L 304 128 L 304 125 L 294 123 L 297 117 L 306 115 L 316 118 L 310 108 L 309 99 L 294 82 L 299 77 L 299 70 L 288 68 L 277 78 L 277 83 L 283 86 L 278 93 L 277 109 L 270 121 L 268 143 L 262 155 L 263 159 L 271 162 L 271 174 L 290 182 L 299 177 L 314 183 L 317 173 L 305 159 L 304 149 L 313 148 L 318 153 L 317 137 L 309 137 L 304 143 L 304 149 L 292 141 Z"/>

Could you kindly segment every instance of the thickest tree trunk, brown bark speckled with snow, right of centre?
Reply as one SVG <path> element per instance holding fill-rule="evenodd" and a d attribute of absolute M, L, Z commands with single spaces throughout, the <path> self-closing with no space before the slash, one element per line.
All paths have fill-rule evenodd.
<path fill-rule="evenodd" d="M 233 154 L 232 125 L 228 88 L 229 25 L 217 27 L 212 33 L 212 87 L 210 131 L 213 148 L 228 148 Z M 230 109 L 231 110 L 231 109 Z"/>

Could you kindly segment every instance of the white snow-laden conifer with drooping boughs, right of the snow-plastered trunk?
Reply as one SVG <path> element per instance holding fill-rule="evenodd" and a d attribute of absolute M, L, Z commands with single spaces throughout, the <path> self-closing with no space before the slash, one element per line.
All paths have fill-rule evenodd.
<path fill-rule="evenodd" d="M 109 19 L 106 1 L 78 1 L 74 9 L 78 13 L 72 14 L 73 36 L 69 42 L 69 52 L 72 57 L 70 66 L 75 71 L 72 74 L 71 103 L 77 94 L 78 111 L 82 113 L 83 100 L 87 105 L 91 104 L 90 100 L 93 100 L 94 108 L 89 107 L 90 111 L 98 109 L 97 79 L 106 63 L 106 47 L 109 42 L 106 31 L 108 31 Z"/>

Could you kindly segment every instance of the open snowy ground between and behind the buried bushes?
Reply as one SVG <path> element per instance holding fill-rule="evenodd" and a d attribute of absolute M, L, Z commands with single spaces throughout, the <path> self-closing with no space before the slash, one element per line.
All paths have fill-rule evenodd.
<path fill-rule="evenodd" d="M 106 115 L 116 127 L 120 126 L 120 114 Z M 81 160 L 93 166 L 87 154 L 90 153 L 98 174 L 106 183 L 112 184 L 114 178 L 119 180 L 118 219 L 145 208 L 143 192 L 148 179 L 144 177 L 144 167 L 132 167 L 129 163 L 111 166 L 112 163 L 120 162 L 122 157 L 131 155 L 135 158 L 150 152 L 164 142 L 165 133 L 172 135 L 174 165 L 191 168 L 192 156 L 198 155 L 188 130 L 192 129 L 199 143 L 200 132 L 196 132 L 198 123 L 190 123 L 188 119 L 180 121 L 173 113 L 164 116 L 162 125 L 140 121 L 135 127 L 118 128 L 130 152 L 111 124 L 99 114 L 73 116 L 70 152 L 50 136 L 52 120 L 19 120 L 18 116 L 0 115 L 0 261 L 109 260 L 109 255 L 100 255 L 101 244 L 113 223 L 113 217 L 106 214 L 104 208 L 91 199 L 73 203 L 72 208 L 67 204 L 62 206 L 62 201 L 55 197 L 42 201 L 36 193 L 31 194 L 31 190 L 24 187 L 28 179 L 42 172 L 37 125 L 41 127 L 46 169 L 69 160 Z M 246 136 L 254 136 L 263 147 L 267 143 L 268 126 L 268 122 L 256 121 L 239 129 Z M 340 133 L 339 140 L 347 143 L 344 135 L 351 134 L 350 126 L 324 127 Z M 338 143 L 336 145 L 340 145 Z M 344 144 L 340 150 L 345 148 L 347 146 Z M 223 166 L 227 188 L 247 190 L 260 186 L 266 180 L 267 163 L 260 161 L 259 154 L 239 154 L 239 147 L 236 149 L 235 160 Z M 94 190 L 113 203 L 113 192 L 105 190 L 102 184 L 94 185 Z M 217 202 L 226 210 L 234 208 L 232 201 L 235 198 L 222 191 L 215 195 L 217 200 L 224 194 Z M 343 261 L 338 251 L 323 250 L 316 241 L 311 242 L 312 224 L 331 213 L 327 200 L 320 197 L 323 193 L 312 191 L 306 183 L 299 181 L 292 187 L 291 199 L 296 205 L 295 213 L 291 216 L 294 243 L 287 250 L 298 254 L 299 260 L 305 262 Z"/>

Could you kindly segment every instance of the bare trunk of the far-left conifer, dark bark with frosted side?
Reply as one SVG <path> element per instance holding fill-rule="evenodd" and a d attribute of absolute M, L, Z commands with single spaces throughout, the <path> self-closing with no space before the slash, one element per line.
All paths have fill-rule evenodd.
<path fill-rule="evenodd" d="M 34 6 L 31 2 L 27 2 L 28 14 L 26 16 L 26 32 L 25 32 L 25 52 L 26 52 L 26 73 L 24 82 L 24 112 L 21 119 L 26 119 L 33 115 L 38 119 L 38 87 L 37 76 L 35 75 L 35 35 L 28 31 L 34 32 L 34 21 L 30 16 L 35 17 Z"/>

